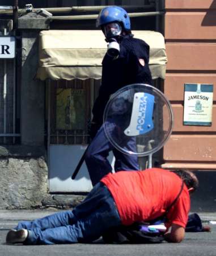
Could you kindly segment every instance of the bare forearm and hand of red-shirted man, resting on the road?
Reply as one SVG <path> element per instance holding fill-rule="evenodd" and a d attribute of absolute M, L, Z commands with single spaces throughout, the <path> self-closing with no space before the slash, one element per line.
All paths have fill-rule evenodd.
<path fill-rule="evenodd" d="M 180 243 L 184 239 L 185 229 L 177 224 L 172 224 L 171 230 L 164 234 L 165 240 L 172 243 Z"/>

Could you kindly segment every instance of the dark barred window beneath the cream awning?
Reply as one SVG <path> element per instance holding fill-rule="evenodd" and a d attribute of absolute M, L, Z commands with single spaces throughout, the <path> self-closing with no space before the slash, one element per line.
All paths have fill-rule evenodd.
<path fill-rule="evenodd" d="M 87 144 L 91 122 L 92 81 L 49 81 L 48 136 L 50 144 Z"/>

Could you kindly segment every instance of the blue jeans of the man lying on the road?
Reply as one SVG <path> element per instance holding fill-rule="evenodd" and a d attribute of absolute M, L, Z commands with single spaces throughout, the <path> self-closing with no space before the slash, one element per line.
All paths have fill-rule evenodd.
<path fill-rule="evenodd" d="M 19 222 L 27 229 L 26 245 L 92 242 L 109 228 L 121 225 L 115 201 L 108 188 L 98 183 L 73 211 L 58 212 L 33 221 Z"/>

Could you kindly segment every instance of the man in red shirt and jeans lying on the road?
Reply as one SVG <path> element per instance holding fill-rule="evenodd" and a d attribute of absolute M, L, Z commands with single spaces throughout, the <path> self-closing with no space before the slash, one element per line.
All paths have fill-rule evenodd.
<path fill-rule="evenodd" d="M 176 199 L 175 204 L 169 206 Z M 150 221 L 166 210 L 168 242 L 181 242 L 190 209 L 190 196 L 198 187 L 196 175 L 161 168 L 120 171 L 108 174 L 73 210 L 58 212 L 33 221 L 19 222 L 7 233 L 7 243 L 51 245 L 92 242 L 111 228 Z"/>

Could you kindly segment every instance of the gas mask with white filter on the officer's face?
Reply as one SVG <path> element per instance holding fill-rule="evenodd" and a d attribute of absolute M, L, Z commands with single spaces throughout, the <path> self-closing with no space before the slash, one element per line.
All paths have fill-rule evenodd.
<path fill-rule="evenodd" d="M 121 26 L 118 22 L 108 23 L 103 27 L 103 32 L 108 44 L 107 54 L 113 58 L 117 57 L 120 52 L 120 45 L 117 42 L 118 36 L 121 35 Z"/>

